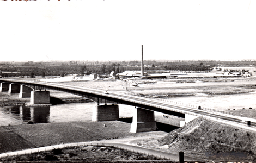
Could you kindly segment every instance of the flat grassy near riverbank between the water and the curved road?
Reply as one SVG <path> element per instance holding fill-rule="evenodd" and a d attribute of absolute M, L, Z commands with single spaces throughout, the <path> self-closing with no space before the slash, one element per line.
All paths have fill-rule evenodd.
<path fill-rule="evenodd" d="M 163 131 L 130 133 L 130 127 L 130 123 L 121 121 L 77 121 L 0 126 L 0 153 L 61 143 L 167 134 Z"/>

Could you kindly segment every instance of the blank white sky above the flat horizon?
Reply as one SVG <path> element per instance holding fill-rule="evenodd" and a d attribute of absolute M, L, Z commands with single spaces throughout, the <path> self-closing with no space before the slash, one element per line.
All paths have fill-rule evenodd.
<path fill-rule="evenodd" d="M 0 0 L 1 1 L 1 0 Z M 0 2 L 0 61 L 256 59 L 255 0 Z"/>

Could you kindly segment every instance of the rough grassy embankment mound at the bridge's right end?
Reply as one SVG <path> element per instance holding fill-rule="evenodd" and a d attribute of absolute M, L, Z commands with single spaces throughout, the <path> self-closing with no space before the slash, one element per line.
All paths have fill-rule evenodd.
<path fill-rule="evenodd" d="M 158 140 L 168 151 L 184 151 L 215 161 L 255 161 L 256 134 L 239 127 L 197 118 Z"/>

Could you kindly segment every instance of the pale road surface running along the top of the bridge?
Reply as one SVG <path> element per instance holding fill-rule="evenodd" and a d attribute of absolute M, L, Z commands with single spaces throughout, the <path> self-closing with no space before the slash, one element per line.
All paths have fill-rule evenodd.
<path fill-rule="evenodd" d="M 191 114 L 191 115 L 196 115 L 198 117 L 205 117 L 205 118 L 211 118 L 213 120 L 222 120 L 223 122 L 231 122 L 231 124 L 236 125 L 236 124 L 242 124 L 243 126 L 246 126 L 246 121 L 251 121 L 251 126 L 256 126 L 256 120 L 252 118 L 246 118 L 246 117 L 237 117 L 237 116 L 231 116 L 227 114 L 219 114 L 217 112 L 212 112 L 212 111 L 206 111 L 206 110 L 199 110 L 196 108 L 188 107 L 188 106 L 182 106 L 182 105 L 177 105 L 173 103 L 167 103 L 163 102 L 160 100 L 156 99 L 151 99 L 151 98 L 145 98 L 145 97 L 139 97 L 139 96 L 132 96 L 132 95 L 126 95 L 122 94 L 121 92 L 111 92 L 109 91 L 108 94 L 105 94 L 105 90 L 98 90 L 98 89 L 93 89 L 93 88 L 87 88 L 87 87 L 79 87 L 79 86 L 71 86 L 71 85 L 64 85 L 64 84 L 57 84 L 57 83 L 45 83 L 45 82 L 32 82 L 32 81 L 25 81 L 25 80 L 10 80 L 10 79 L 1 79 L 1 82 L 16 82 L 18 84 L 34 84 L 34 85 L 39 85 L 42 87 L 55 87 L 55 88 L 60 88 L 60 89 L 65 89 L 65 90 L 75 90 L 79 92 L 84 92 L 84 93 L 90 93 L 90 95 L 94 94 L 97 96 L 100 96 L 101 98 L 104 97 L 110 97 L 113 101 L 115 99 L 121 99 L 124 103 L 125 102 L 132 102 L 134 104 L 143 104 L 145 106 L 144 109 L 148 109 L 147 106 L 154 106 L 154 108 L 159 108 L 161 111 L 173 111 L 173 112 L 178 112 L 181 114 Z M 72 93 L 72 92 L 70 92 Z M 136 106 L 136 105 L 135 105 Z M 157 111 L 157 110 L 153 110 Z M 160 112 L 161 112 L 160 111 Z"/>

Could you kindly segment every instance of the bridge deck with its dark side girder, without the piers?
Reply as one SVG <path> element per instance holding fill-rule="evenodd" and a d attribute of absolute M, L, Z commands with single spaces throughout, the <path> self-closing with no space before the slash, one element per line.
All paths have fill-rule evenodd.
<path fill-rule="evenodd" d="M 109 91 L 109 94 L 103 93 L 102 89 L 88 88 L 88 87 L 78 87 L 71 85 L 64 85 L 58 83 L 47 83 L 47 82 L 32 82 L 26 80 L 8 80 L 0 79 L 0 82 L 20 84 L 32 87 L 33 90 L 57 90 L 72 93 L 74 95 L 86 97 L 92 99 L 96 103 L 116 103 L 116 104 L 126 104 L 136 106 L 137 108 L 142 108 L 151 111 L 158 111 L 164 114 L 174 115 L 178 117 L 185 118 L 185 114 L 195 115 L 197 117 L 216 117 L 218 114 L 225 117 L 230 117 L 230 112 L 212 110 L 202 107 L 198 109 L 198 106 L 191 104 L 183 104 L 179 102 L 169 101 L 168 99 L 161 99 L 155 97 L 142 97 L 141 95 L 133 95 L 127 92 Z M 125 95 L 122 95 L 125 94 Z M 36 101 L 36 100 L 34 100 Z M 215 112 L 214 112 L 215 111 Z M 207 112 L 207 113 L 206 113 Z"/>

